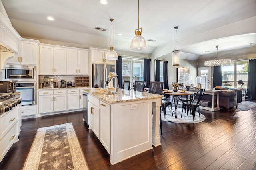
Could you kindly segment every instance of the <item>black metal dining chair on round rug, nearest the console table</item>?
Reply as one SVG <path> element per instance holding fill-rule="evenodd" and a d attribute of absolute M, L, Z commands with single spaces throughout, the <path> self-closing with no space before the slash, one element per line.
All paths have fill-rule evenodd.
<path fill-rule="evenodd" d="M 204 95 L 204 88 L 201 88 L 198 90 L 198 92 L 196 92 L 196 95 L 194 96 L 193 100 L 190 100 L 188 102 L 184 102 L 182 104 L 182 111 L 181 111 L 181 117 L 182 117 L 182 113 L 183 113 L 183 109 L 186 107 L 187 109 L 187 115 L 188 115 L 188 110 L 191 109 L 192 111 L 192 116 L 193 116 L 193 121 L 195 120 L 195 115 L 196 115 L 196 108 L 198 109 L 198 113 L 199 113 L 199 118 L 200 117 L 200 108 L 199 108 L 199 102 L 202 99 L 202 96 Z"/>

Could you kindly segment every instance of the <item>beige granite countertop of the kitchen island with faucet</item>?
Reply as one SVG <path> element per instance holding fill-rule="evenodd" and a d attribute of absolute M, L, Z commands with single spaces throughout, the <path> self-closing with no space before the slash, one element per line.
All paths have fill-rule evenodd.
<path fill-rule="evenodd" d="M 159 95 L 159 94 L 137 92 L 134 90 L 124 90 L 124 95 L 123 95 L 122 90 L 123 89 L 119 89 L 118 94 L 108 94 L 108 95 L 97 94 L 97 92 L 104 92 L 104 90 L 84 89 L 83 91 L 110 104 L 163 97 L 162 95 Z"/>

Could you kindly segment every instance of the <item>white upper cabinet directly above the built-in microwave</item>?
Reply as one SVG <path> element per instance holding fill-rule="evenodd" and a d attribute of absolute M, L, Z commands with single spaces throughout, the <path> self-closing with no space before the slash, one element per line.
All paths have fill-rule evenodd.
<path fill-rule="evenodd" d="M 38 59 L 38 40 L 23 39 L 20 41 L 20 54 L 9 59 L 8 64 L 35 65 Z"/>

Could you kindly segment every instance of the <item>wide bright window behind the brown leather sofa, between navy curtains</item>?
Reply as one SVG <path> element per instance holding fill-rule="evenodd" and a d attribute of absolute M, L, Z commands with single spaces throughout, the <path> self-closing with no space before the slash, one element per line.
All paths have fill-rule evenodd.
<path fill-rule="evenodd" d="M 242 88 L 247 88 L 248 82 L 248 64 L 249 60 L 242 60 L 242 61 L 233 61 L 228 66 L 222 66 L 222 86 L 224 87 L 225 84 L 235 84 L 237 88 L 241 87 L 240 84 L 237 82 L 242 80 L 244 85 Z M 227 86 L 230 87 L 230 86 Z M 234 87 L 232 87 L 234 88 Z"/>

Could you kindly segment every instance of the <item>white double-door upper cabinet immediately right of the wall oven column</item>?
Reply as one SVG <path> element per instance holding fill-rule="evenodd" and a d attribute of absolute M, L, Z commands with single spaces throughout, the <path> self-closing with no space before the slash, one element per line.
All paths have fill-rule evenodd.
<path fill-rule="evenodd" d="M 66 48 L 40 45 L 40 74 L 66 74 Z"/>

